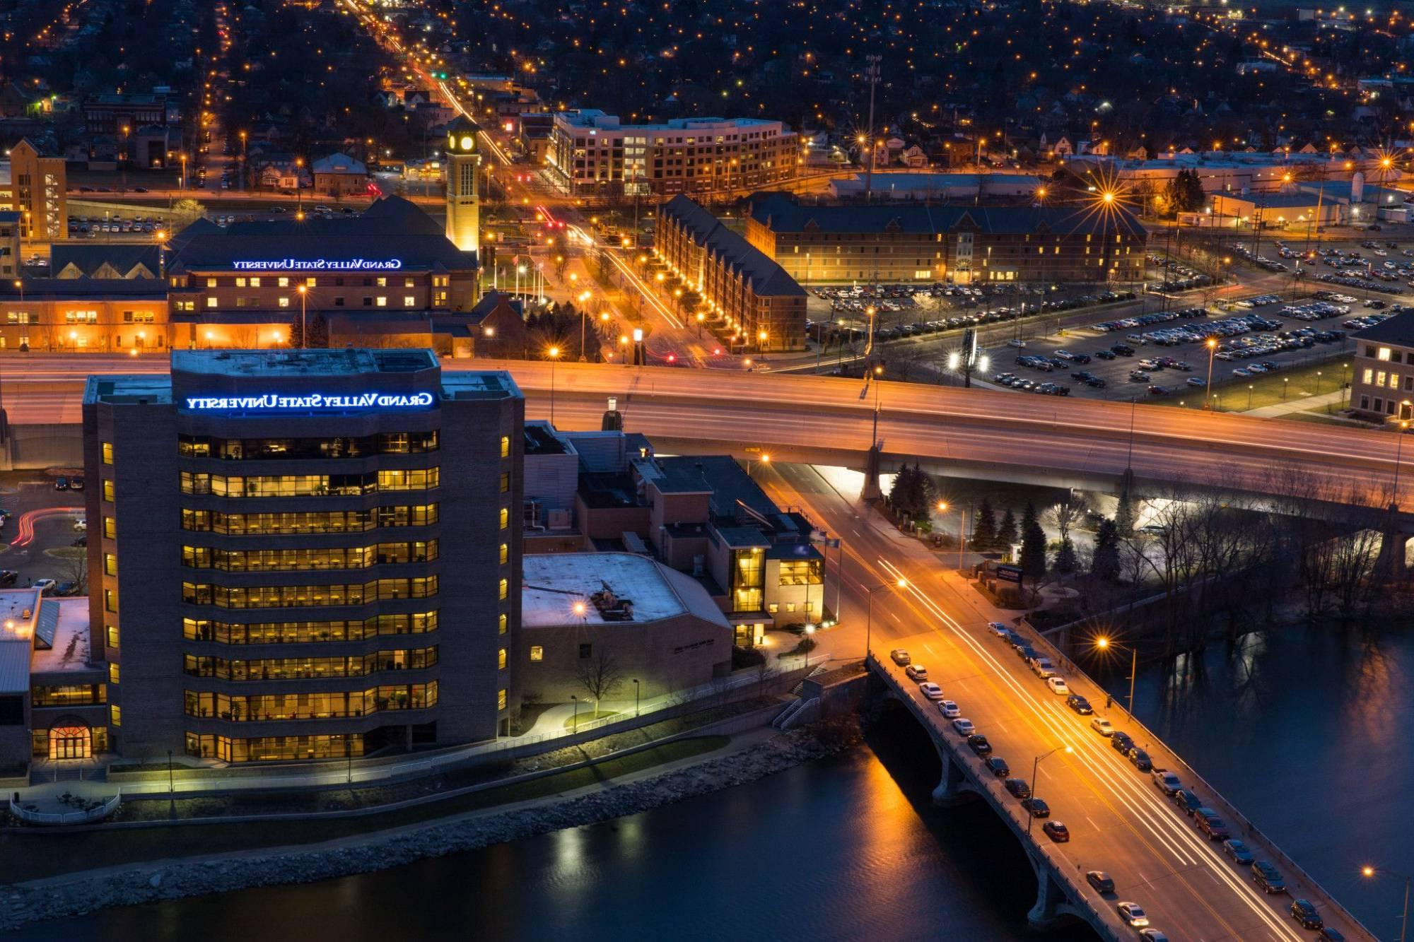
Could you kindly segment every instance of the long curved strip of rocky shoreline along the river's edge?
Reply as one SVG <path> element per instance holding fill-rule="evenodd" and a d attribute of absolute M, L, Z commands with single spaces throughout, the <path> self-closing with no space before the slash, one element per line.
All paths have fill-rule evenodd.
<path fill-rule="evenodd" d="M 387 835 L 373 832 L 356 844 L 341 842 L 342 846 L 334 849 L 286 849 L 283 853 L 246 853 L 163 866 L 132 864 L 88 878 L 74 874 L 54 877 L 34 887 L 11 884 L 0 888 L 4 898 L 0 931 L 109 907 L 387 870 L 423 857 L 479 850 L 564 827 L 594 825 L 754 782 L 840 752 L 858 740 L 853 717 L 826 720 L 717 760 L 617 785 L 594 795 L 512 812 L 485 812 L 467 820 L 431 822 Z"/>

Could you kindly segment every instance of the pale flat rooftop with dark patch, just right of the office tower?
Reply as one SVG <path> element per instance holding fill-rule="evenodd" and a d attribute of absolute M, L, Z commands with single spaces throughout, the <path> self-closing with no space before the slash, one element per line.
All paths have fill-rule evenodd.
<path fill-rule="evenodd" d="M 669 573 L 633 553 L 529 554 L 522 563 L 520 624 L 526 628 L 642 624 L 682 615 L 689 608 L 669 583 Z M 633 603 L 629 622 L 600 615 L 590 597 L 605 586 L 615 597 Z M 583 614 L 575 611 L 578 604 Z"/>

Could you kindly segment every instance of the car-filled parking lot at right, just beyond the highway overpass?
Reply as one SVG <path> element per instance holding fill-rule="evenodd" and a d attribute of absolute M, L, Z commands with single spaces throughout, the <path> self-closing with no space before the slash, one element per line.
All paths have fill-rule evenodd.
<path fill-rule="evenodd" d="M 1348 355 L 1352 332 L 1403 310 L 1365 307 L 1353 296 L 1325 290 L 1290 304 L 1267 294 L 1232 307 L 1232 313 L 1152 311 L 1072 328 L 1066 337 L 1007 341 L 987 351 L 988 378 L 998 386 L 1062 396 L 1200 399 L 1209 354 L 1216 392 Z"/>

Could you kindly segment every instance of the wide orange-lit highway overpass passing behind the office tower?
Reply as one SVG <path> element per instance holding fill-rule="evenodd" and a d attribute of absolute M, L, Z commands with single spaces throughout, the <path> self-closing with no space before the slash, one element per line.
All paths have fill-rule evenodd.
<path fill-rule="evenodd" d="M 88 373 L 165 368 L 165 358 L 6 358 L 3 406 L 17 437 L 72 426 Z M 553 386 L 554 419 L 568 429 L 598 427 L 614 396 L 628 429 L 674 451 L 864 467 L 878 409 L 885 470 L 922 461 L 940 475 L 1111 489 L 1131 468 L 1141 485 L 1220 479 L 1268 492 L 1301 481 L 1376 498 L 1394 477 L 1391 434 L 1236 413 L 769 372 L 486 359 L 444 368 L 510 371 L 533 417 L 550 417 Z"/>

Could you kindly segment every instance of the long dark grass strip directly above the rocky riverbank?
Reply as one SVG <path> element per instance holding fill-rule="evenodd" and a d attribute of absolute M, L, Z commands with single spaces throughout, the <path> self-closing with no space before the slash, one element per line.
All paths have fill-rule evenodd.
<path fill-rule="evenodd" d="M 74 870 L 112 867 L 164 857 L 305 844 L 365 835 L 608 782 L 655 765 L 720 750 L 728 741 L 730 737 L 725 735 L 677 740 L 624 758 L 605 760 L 592 767 L 546 775 L 529 782 L 488 788 L 386 815 L 315 820 L 291 818 L 290 820 L 247 822 L 233 826 L 174 825 L 170 827 L 69 833 L 44 829 L 6 830 L 0 832 L 0 883 L 38 880 Z"/>

